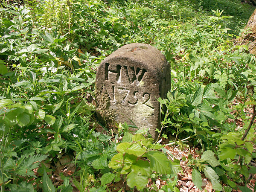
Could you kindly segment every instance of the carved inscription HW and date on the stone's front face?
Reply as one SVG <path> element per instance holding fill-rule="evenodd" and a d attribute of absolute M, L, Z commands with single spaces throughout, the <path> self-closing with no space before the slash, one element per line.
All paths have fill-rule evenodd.
<path fill-rule="evenodd" d="M 133 84 L 134 81 L 142 81 L 146 72 L 147 70 L 140 69 L 139 67 L 106 63 L 106 83 L 103 86 L 103 92 L 108 94 L 112 103 L 123 103 L 131 106 L 140 103 L 154 109 L 150 104 L 150 94 L 140 93 L 141 87 L 139 84 Z"/>

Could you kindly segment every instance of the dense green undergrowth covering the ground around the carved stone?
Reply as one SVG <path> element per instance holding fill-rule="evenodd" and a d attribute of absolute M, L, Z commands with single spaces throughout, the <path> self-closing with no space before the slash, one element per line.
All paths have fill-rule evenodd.
<path fill-rule="evenodd" d="M 242 29 L 252 6 L 239 0 L 2 0 L 0 6 L 2 192 L 256 190 L 256 58 L 237 42 L 248 33 Z M 159 49 L 171 67 L 172 88 L 158 99 L 167 110 L 156 143 L 130 133 L 127 123 L 113 134 L 95 114 L 97 66 L 136 42 Z"/>

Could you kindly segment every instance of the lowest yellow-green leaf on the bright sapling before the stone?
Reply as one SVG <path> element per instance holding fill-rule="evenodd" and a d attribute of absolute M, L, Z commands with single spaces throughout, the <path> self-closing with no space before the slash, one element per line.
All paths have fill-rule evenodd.
<path fill-rule="evenodd" d="M 127 185 L 129 187 L 134 187 L 138 189 L 138 191 L 142 191 L 145 186 L 148 184 L 148 177 L 146 176 L 139 176 L 134 172 L 131 172 L 127 175 Z"/>

